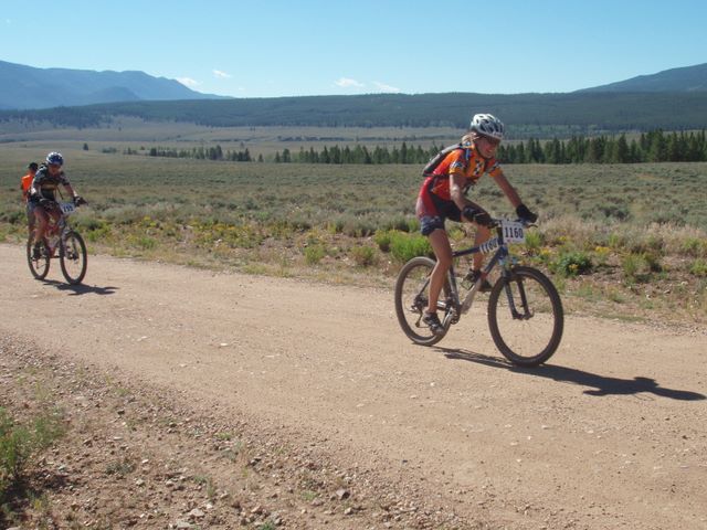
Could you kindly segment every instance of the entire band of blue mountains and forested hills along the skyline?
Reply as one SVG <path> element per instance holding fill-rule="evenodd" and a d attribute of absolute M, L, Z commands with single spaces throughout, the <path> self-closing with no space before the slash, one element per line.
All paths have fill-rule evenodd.
<path fill-rule="evenodd" d="M 8 72 L 12 72 L 11 78 Z M 108 103 L 95 103 L 106 99 Z M 475 113 L 492 113 L 514 124 L 516 137 L 705 129 L 707 64 L 572 93 L 219 98 L 141 72 L 39 70 L 0 62 L 0 124 L 41 123 L 83 128 L 106 126 L 122 116 L 131 116 L 147 121 L 209 127 L 451 126 L 461 129 Z"/>

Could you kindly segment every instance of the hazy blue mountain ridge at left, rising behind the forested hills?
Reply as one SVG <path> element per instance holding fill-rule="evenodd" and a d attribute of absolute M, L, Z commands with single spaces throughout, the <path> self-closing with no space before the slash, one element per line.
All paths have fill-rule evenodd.
<path fill-rule="evenodd" d="M 0 109 L 51 108 L 96 103 L 218 99 L 144 72 L 34 68 L 0 61 Z"/>

